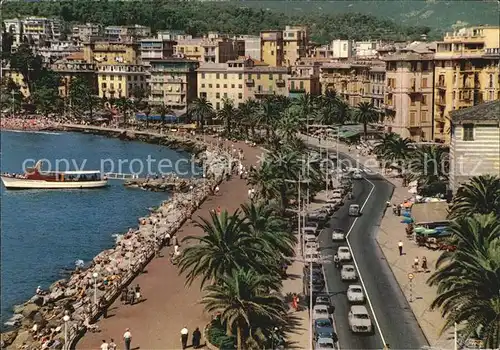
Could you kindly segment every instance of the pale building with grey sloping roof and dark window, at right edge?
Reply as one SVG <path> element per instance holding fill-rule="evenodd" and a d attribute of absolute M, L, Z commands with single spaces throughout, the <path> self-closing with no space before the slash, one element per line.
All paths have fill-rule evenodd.
<path fill-rule="evenodd" d="M 500 100 L 450 112 L 450 187 L 471 177 L 500 175 Z"/>

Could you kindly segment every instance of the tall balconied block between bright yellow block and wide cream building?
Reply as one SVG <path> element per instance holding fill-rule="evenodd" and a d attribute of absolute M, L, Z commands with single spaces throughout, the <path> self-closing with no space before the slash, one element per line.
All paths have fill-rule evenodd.
<path fill-rule="evenodd" d="M 177 116 L 187 111 L 188 104 L 197 97 L 197 72 L 200 63 L 184 58 L 166 58 L 150 62 L 147 82 L 151 94 L 149 104 L 165 104 Z"/>

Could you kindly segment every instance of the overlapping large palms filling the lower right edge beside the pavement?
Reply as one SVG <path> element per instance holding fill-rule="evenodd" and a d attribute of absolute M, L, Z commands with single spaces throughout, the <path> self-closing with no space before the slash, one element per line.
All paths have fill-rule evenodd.
<path fill-rule="evenodd" d="M 443 331 L 458 324 L 462 339 L 500 347 L 500 177 L 474 177 L 455 196 L 449 230 L 457 249 L 443 253 L 429 278 Z"/>

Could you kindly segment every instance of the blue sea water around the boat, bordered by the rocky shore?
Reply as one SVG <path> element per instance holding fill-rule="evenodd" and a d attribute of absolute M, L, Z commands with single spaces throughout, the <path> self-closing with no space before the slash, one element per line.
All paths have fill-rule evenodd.
<path fill-rule="evenodd" d="M 191 155 L 164 146 L 81 133 L 2 131 L 1 172 L 21 173 L 43 159 L 44 170 L 102 170 L 197 176 Z M 161 162 L 160 162 L 161 161 Z M 148 169 L 149 164 L 149 169 Z M 160 164 L 160 165 L 159 165 Z M 125 188 L 122 180 L 89 190 L 0 188 L 1 321 L 12 307 L 68 276 L 78 260 L 88 263 L 135 227 L 167 192 Z"/>

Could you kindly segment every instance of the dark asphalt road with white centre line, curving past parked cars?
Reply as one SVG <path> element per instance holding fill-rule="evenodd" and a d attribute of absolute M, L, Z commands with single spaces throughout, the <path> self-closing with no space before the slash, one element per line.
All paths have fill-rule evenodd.
<path fill-rule="evenodd" d="M 341 154 L 341 159 L 349 159 Z M 362 167 L 361 167 L 362 168 Z M 326 291 L 335 306 L 334 318 L 341 349 L 382 349 L 389 344 L 393 349 L 419 349 L 428 342 L 411 311 L 385 257 L 376 242 L 379 224 L 386 209 L 393 186 L 371 171 L 362 180 L 354 180 L 354 199 L 346 201 L 322 231 L 319 241 L 322 255 L 334 255 L 339 245 L 332 243 L 333 228 L 348 232 L 348 242 L 358 275 L 355 283 L 342 282 L 340 271 L 333 264 L 325 264 Z M 351 218 L 349 204 L 362 207 L 362 215 Z M 394 242 L 397 244 L 397 242 Z M 375 332 L 372 335 L 353 334 L 349 330 L 347 315 L 349 303 L 345 292 L 349 284 L 362 284 L 369 301 L 365 304 L 371 313 Z"/>

